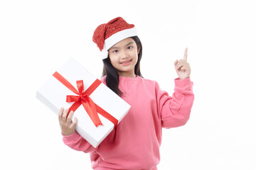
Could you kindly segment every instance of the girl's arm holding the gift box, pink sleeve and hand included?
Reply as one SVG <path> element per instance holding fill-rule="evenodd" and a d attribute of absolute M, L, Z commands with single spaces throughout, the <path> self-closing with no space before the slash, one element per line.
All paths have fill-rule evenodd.
<path fill-rule="evenodd" d="M 68 117 L 67 117 L 68 115 Z M 72 123 L 71 118 L 73 116 L 73 111 L 70 111 L 68 114 L 68 109 L 64 111 L 64 108 L 60 108 L 59 112 L 59 123 L 61 128 L 61 134 L 63 135 L 63 142 L 68 147 L 82 151 L 82 152 L 92 152 L 95 151 L 95 148 L 90 145 L 84 138 L 82 138 L 78 132 L 75 132 L 75 127 L 78 123 L 77 118 Z"/>

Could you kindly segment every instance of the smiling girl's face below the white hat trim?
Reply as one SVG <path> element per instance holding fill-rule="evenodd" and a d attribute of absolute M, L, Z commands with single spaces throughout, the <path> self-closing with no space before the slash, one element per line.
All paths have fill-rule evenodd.
<path fill-rule="evenodd" d="M 119 76 L 136 77 L 135 65 L 138 61 L 139 49 L 132 38 L 117 42 L 109 50 L 110 62 L 118 70 Z"/>

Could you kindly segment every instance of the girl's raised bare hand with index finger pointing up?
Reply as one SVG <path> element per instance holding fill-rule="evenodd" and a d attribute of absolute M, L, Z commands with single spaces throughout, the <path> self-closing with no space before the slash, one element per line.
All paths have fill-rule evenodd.
<path fill-rule="evenodd" d="M 179 79 L 187 79 L 191 74 L 191 67 L 188 62 L 188 47 L 186 47 L 184 52 L 183 60 L 176 60 L 174 62 L 174 67 L 176 69 L 176 73 L 178 74 Z"/>

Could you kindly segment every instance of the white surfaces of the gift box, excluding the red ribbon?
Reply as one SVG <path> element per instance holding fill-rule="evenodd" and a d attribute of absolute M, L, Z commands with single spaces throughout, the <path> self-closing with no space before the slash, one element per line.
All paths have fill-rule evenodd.
<path fill-rule="evenodd" d="M 65 64 L 56 71 L 67 79 L 75 89 L 78 89 L 76 84 L 76 81 L 78 80 L 83 81 L 84 90 L 86 90 L 96 80 L 90 72 L 72 58 L 65 62 Z M 36 91 L 36 98 L 46 104 L 46 106 L 48 106 L 48 108 L 57 115 L 60 108 L 70 108 L 70 106 L 72 106 L 73 103 L 66 102 L 66 96 L 68 95 L 78 96 L 53 76 L 46 81 L 46 84 L 43 84 L 43 86 Z M 122 118 L 124 118 L 124 115 L 128 113 L 129 108 L 131 107 L 102 83 L 97 87 L 97 89 L 95 89 L 95 91 L 92 92 L 92 94 L 90 94 L 90 98 L 92 98 L 94 103 L 116 118 L 118 123 Z M 93 147 L 100 145 L 100 142 L 102 142 L 102 140 L 104 140 L 114 128 L 114 124 L 110 122 L 110 120 L 107 120 L 107 118 L 100 114 L 98 115 L 103 125 L 98 125 L 96 127 L 85 111 L 85 108 L 80 105 L 74 112 L 72 118 L 73 121 L 75 117 L 78 118 L 78 125 L 75 130 L 85 138 L 87 142 L 90 142 Z"/>

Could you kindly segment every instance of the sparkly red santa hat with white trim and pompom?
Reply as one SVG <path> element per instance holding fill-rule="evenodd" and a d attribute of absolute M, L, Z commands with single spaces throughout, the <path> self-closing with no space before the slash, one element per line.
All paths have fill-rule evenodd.
<path fill-rule="evenodd" d="M 117 17 L 108 23 L 98 26 L 93 33 L 92 40 L 100 48 L 102 60 L 107 58 L 108 52 L 117 42 L 137 35 L 137 30 L 133 24 L 124 21 L 123 18 Z"/>

